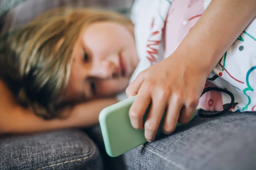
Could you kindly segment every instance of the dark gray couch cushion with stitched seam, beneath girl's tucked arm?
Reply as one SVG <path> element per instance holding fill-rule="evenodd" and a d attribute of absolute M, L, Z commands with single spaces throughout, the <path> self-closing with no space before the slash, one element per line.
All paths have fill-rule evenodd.
<path fill-rule="evenodd" d="M 0 137 L 0 170 L 103 170 L 98 147 L 81 130 Z"/>

